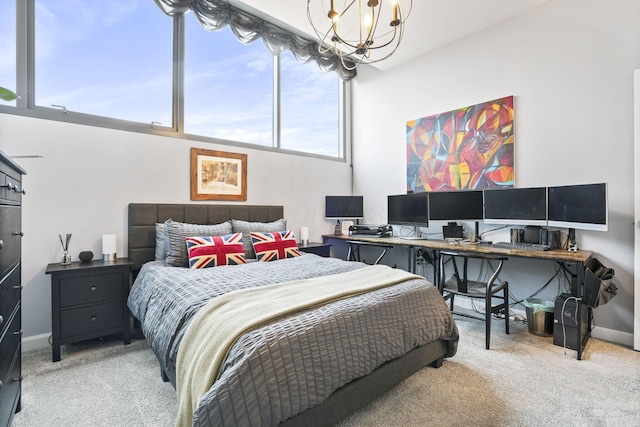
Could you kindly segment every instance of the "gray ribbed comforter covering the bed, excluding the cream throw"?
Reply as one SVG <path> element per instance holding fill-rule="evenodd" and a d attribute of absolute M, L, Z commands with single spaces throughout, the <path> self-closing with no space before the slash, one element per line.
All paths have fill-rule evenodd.
<path fill-rule="evenodd" d="M 211 298 L 364 266 L 312 254 L 204 270 L 151 262 L 131 289 L 129 308 L 163 368 L 174 370 L 185 328 Z M 438 339 L 449 342 L 447 356 L 455 354 L 457 328 L 426 280 L 296 314 L 238 340 L 196 409 L 194 425 L 277 425 L 384 362 Z"/>

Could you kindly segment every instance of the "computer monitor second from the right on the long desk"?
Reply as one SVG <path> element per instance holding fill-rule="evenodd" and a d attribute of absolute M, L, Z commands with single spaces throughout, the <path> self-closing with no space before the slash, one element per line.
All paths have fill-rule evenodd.
<path fill-rule="evenodd" d="M 547 225 L 547 188 L 484 190 L 487 224 Z"/>

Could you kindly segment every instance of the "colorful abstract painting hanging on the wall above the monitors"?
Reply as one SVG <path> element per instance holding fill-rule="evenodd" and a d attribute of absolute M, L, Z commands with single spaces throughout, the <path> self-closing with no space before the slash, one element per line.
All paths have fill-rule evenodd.
<path fill-rule="evenodd" d="M 513 96 L 407 122 L 407 191 L 514 186 Z"/>

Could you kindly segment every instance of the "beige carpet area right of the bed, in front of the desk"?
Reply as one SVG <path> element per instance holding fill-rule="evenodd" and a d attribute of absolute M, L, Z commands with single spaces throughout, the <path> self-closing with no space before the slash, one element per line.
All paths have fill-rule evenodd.
<path fill-rule="evenodd" d="M 640 426 L 640 352 L 589 340 L 583 360 L 553 338 L 456 318 L 458 353 L 423 369 L 347 426 Z M 566 354 L 565 354 L 566 353 Z"/>

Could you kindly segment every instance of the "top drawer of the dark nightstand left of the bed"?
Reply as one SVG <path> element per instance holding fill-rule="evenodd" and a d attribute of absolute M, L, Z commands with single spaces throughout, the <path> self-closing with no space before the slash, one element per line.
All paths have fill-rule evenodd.
<path fill-rule="evenodd" d="M 60 279 L 60 307 L 122 298 L 122 273 L 120 272 Z"/>

